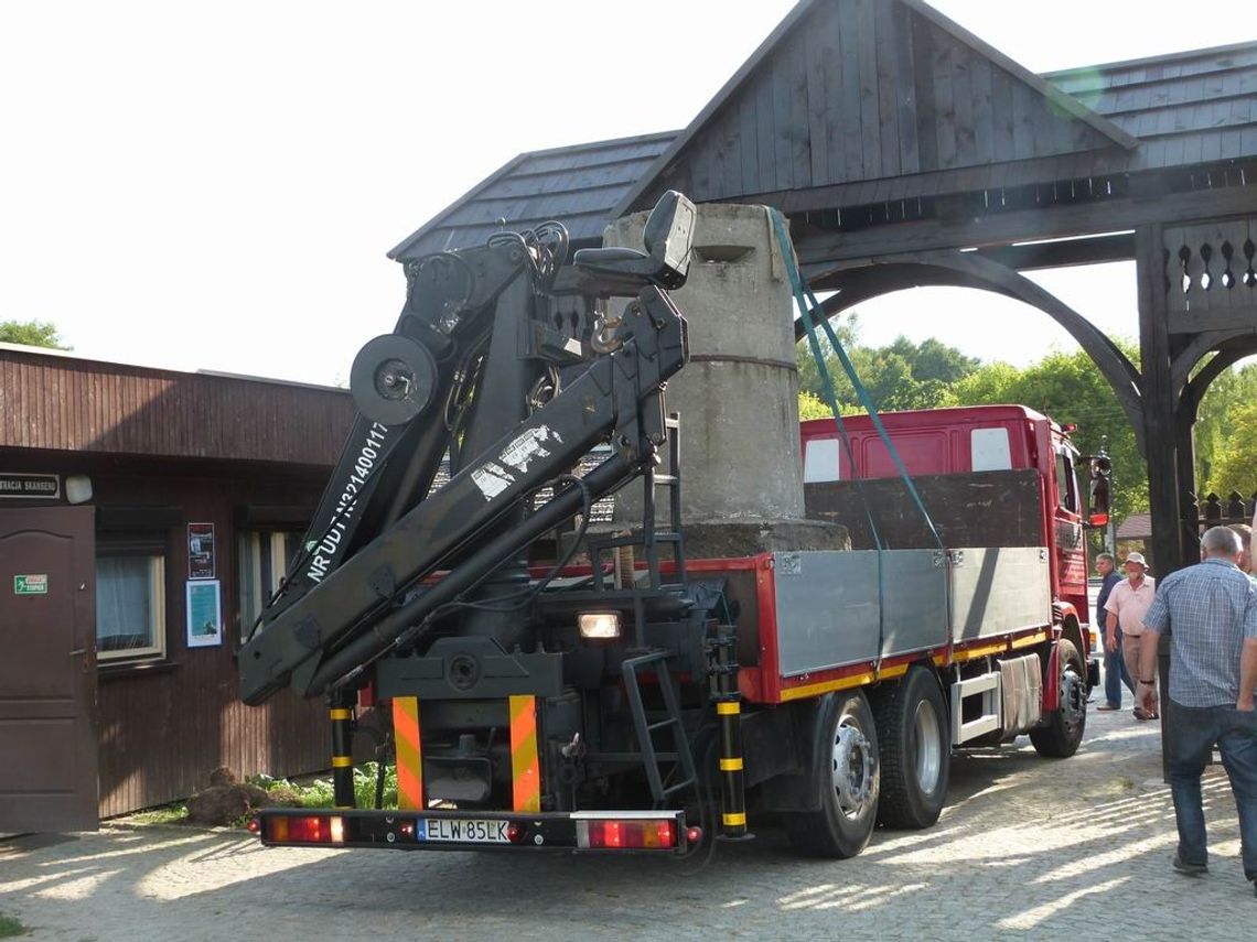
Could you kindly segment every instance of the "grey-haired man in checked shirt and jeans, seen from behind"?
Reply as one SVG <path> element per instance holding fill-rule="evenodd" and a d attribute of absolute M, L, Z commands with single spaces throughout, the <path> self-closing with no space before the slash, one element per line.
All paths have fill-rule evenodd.
<path fill-rule="evenodd" d="M 1217 744 L 1239 813 L 1244 878 L 1257 892 L 1257 587 L 1236 565 L 1239 536 L 1214 526 L 1204 560 L 1161 579 L 1144 615 L 1135 698 L 1155 708 L 1156 643 L 1170 638 L 1168 736 L 1170 793 L 1179 847 L 1174 869 L 1208 872 L 1200 774 Z"/>

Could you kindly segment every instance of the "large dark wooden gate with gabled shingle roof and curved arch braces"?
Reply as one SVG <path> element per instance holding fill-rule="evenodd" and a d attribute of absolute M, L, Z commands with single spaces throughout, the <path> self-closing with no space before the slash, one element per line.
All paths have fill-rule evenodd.
<path fill-rule="evenodd" d="M 1257 353 L 1257 43 L 1036 75 L 921 0 L 802 0 L 684 131 L 522 154 L 391 255 L 499 219 L 592 245 L 666 188 L 786 214 L 830 314 L 957 285 L 1053 318 L 1135 427 L 1159 571 L 1198 558 L 1197 406 Z M 1116 260 L 1141 367 L 1022 274 Z"/>

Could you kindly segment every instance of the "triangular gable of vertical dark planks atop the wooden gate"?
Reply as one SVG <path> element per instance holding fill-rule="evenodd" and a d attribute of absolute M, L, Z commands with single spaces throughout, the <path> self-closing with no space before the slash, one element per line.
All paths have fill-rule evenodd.
<path fill-rule="evenodd" d="M 817 3 L 666 185 L 732 200 L 1115 146 L 991 51 L 890 0 Z"/>

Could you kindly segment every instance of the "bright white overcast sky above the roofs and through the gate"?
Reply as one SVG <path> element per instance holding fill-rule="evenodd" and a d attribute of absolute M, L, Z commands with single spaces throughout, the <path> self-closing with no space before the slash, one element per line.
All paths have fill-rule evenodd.
<path fill-rule="evenodd" d="M 936 0 L 1033 72 L 1257 36 L 1146 0 Z M 0 3 L 0 320 L 79 355 L 347 383 L 392 329 L 386 252 L 515 154 L 684 128 L 792 0 Z M 1032 275 L 1138 335 L 1134 266 Z M 982 291 L 860 306 L 1018 365 L 1075 349 Z"/>

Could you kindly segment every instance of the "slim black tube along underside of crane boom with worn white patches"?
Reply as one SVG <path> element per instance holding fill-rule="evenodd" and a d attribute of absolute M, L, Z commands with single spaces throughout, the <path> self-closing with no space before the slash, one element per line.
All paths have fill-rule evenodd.
<path fill-rule="evenodd" d="M 317 696 L 342 678 L 356 677 L 366 664 L 396 647 L 409 628 L 421 624 L 437 607 L 456 602 L 459 595 L 475 588 L 504 559 L 508 559 L 513 553 L 519 553 L 547 530 L 554 529 L 572 516 L 583 505 L 586 494 L 601 497 L 625 484 L 635 471 L 635 462 L 625 457 L 623 453 L 612 455 L 585 476 L 583 489 L 568 487 L 562 494 L 554 495 L 553 500 L 527 516 L 519 526 L 480 546 L 439 583 L 387 614 L 371 631 L 360 634 L 331 654 L 314 672 L 309 687 L 303 691 L 304 695 L 307 697 Z"/>

